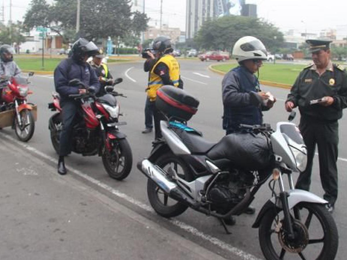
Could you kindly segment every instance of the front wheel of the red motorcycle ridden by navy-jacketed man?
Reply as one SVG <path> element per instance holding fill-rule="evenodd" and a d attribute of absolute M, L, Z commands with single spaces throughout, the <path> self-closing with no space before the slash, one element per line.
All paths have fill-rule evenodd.
<path fill-rule="evenodd" d="M 110 155 L 103 153 L 102 163 L 112 179 L 125 179 L 133 166 L 133 154 L 127 139 L 120 139 L 113 143 Z M 120 171 L 119 167 L 121 166 Z"/>

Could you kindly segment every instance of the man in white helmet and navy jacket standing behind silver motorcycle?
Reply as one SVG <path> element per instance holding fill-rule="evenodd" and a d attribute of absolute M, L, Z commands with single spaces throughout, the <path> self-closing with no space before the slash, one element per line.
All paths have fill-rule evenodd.
<path fill-rule="evenodd" d="M 227 135 L 242 131 L 240 124 L 262 124 L 262 111 L 269 110 L 276 102 L 270 93 L 260 90 L 259 80 L 254 75 L 267 59 L 264 44 L 253 36 L 242 37 L 235 43 L 232 55 L 239 66 L 230 70 L 222 81 L 223 129 Z M 261 98 L 252 98 L 254 94 Z M 245 211 L 247 214 L 254 212 L 253 207 Z M 231 217 L 227 224 L 235 224 L 235 219 Z"/>

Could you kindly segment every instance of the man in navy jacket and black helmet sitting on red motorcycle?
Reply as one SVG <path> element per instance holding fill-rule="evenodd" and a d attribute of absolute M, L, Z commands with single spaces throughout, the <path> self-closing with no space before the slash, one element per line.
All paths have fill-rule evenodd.
<path fill-rule="evenodd" d="M 54 85 L 60 94 L 60 105 L 62 108 L 63 128 L 60 133 L 58 173 L 66 174 L 64 157 L 71 151 L 71 131 L 79 103 L 70 94 L 83 94 L 87 91 L 98 93 L 100 89 L 99 79 L 95 71 L 86 62 L 87 59 L 99 53 L 99 48 L 83 38 L 79 38 L 71 48 L 71 57 L 60 62 L 54 70 Z M 71 79 L 79 79 L 88 90 L 80 89 L 78 86 L 69 86 Z"/>

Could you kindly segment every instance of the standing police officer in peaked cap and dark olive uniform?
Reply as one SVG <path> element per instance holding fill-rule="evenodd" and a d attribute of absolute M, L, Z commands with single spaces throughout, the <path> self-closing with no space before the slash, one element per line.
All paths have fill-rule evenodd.
<path fill-rule="evenodd" d="M 301 114 L 300 131 L 307 146 L 307 167 L 299 175 L 297 189 L 309 190 L 315 146 L 327 208 L 334 210 L 337 199 L 338 120 L 347 107 L 347 75 L 330 60 L 331 41 L 307 40 L 313 64 L 297 77 L 285 103 L 288 112 L 296 106 Z"/>

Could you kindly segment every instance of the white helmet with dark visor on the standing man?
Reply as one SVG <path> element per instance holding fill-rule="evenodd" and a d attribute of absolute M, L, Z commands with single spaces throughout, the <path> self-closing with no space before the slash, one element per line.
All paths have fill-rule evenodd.
<path fill-rule="evenodd" d="M 237 62 L 244 60 L 266 60 L 268 53 L 264 44 L 253 36 L 239 38 L 232 49 L 232 55 Z"/>

